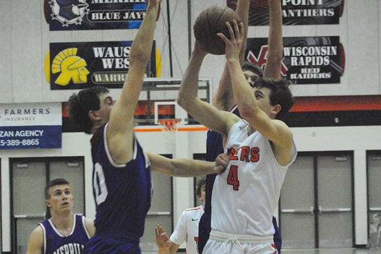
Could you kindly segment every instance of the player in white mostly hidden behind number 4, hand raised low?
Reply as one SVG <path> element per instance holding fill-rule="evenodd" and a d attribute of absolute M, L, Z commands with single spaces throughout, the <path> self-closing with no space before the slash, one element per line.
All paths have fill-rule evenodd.
<path fill-rule="evenodd" d="M 200 177 L 196 184 L 197 197 L 202 201 L 202 206 L 188 208 L 182 212 L 175 231 L 168 239 L 161 226 L 155 228 L 156 244 L 159 247 L 157 254 L 173 254 L 180 245 L 186 242 L 186 253 L 197 254 L 199 219 L 204 214 L 206 176 Z"/>

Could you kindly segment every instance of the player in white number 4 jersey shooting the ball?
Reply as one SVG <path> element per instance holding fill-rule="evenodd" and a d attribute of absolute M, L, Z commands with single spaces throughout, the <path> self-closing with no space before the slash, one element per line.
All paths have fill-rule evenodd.
<path fill-rule="evenodd" d="M 203 254 L 277 253 L 273 245 L 273 214 L 287 168 L 297 151 L 293 133 L 282 119 L 293 106 L 286 80 L 257 79 L 253 88 L 240 66 L 243 25 L 233 21 L 222 34 L 226 65 L 241 117 L 218 110 L 197 97 L 198 73 L 208 54 L 195 42 L 177 102 L 200 124 L 221 133 L 231 161 L 215 179 L 211 237 Z M 243 120 L 244 119 L 244 120 Z"/>

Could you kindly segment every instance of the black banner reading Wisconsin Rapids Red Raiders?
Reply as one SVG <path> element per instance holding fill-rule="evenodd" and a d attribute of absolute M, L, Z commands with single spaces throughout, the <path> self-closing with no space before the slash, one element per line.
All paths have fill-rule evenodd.
<path fill-rule="evenodd" d="M 340 37 L 283 38 L 282 76 L 293 84 L 340 84 L 345 55 Z M 248 38 L 246 60 L 266 64 L 267 38 Z"/>

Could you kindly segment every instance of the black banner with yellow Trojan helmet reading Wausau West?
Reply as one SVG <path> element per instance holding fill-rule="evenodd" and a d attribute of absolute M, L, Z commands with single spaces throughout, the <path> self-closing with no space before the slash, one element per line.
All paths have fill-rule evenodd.
<path fill-rule="evenodd" d="M 45 71 L 50 90 L 91 86 L 121 88 L 130 68 L 133 41 L 50 43 Z M 146 77 L 156 77 L 155 41 Z"/>

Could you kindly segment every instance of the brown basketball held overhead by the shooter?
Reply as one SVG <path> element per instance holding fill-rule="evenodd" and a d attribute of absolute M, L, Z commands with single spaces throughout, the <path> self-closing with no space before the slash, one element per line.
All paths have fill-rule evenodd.
<path fill-rule="evenodd" d="M 213 55 L 224 55 L 225 42 L 217 36 L 217 32 L 223 33 L 226 38 L 230 39 L 226 22 L 233 27 L 233 19 L 237 23 L 241 23 L 237 12 L 227 6 L 211 6 L 203 10 L 193 25 L 195 38 L 201 44 L 202 49 Z"/>

